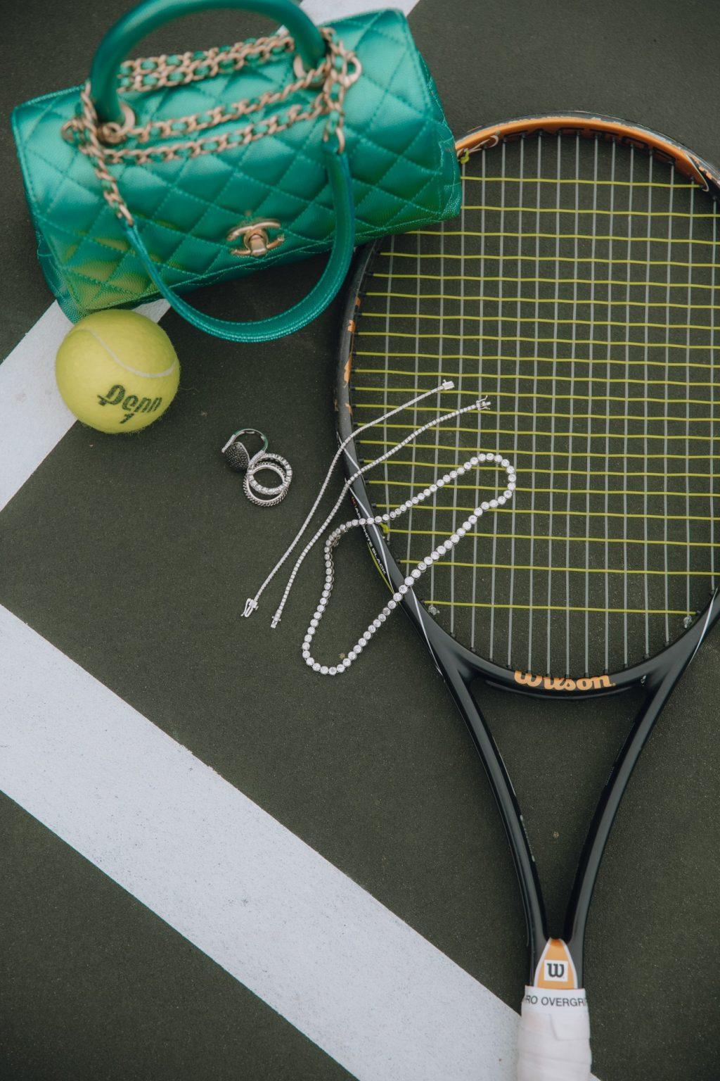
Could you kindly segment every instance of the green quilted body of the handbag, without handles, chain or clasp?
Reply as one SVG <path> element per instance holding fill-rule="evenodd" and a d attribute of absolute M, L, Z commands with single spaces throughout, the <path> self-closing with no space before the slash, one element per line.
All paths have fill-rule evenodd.
<path fill-rule="evenodd" d="M 384 10 L 331 25 L 363 64 L 345 97 L 356 241 L 457 214 L 460 179 L 452 135 L 405 16 Z M 286 85 L 294 78 L 291 62 L 291 56 L 281 56 L 233 75 L 128 94 L 126 99 L 138 123 L 187 116 Z M 39 258 L 72 320 L 158 295 L 103 198 L 91 162 L 62 137 L 78 95 L 78 88 L 50 94 L 13 114 Z M 298 93 L 288 105 L 302 97 Z M 297 123 L 222 154 L 113 166 L 144 243 L 168 285 L 184 292 L 329 248 L 334 214 L 321 149 L 324 123 L 325 118 Z M 279 219 L 285 242 L 260 261 L 240 261 L 230 253 L 227 233 L 260 217 Z"/>

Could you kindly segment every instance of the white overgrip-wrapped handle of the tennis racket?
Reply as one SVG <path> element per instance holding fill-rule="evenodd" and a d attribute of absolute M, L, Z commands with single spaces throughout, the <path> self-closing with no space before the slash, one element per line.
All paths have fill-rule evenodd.
<path fill-rule="evenodd" d="M 526 987 L 517 1081 L 589 1081 L 590 1062 L 585 991 Z"/>

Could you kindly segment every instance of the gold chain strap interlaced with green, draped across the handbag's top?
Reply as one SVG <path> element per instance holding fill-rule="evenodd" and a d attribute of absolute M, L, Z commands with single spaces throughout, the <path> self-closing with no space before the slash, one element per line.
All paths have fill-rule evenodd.
<path fill-rule="evenodd" d="M 81 112 L 63 125 L 63 137 L 77 145 L 82 154 L 87 155 L 93 162 L 95 175 L 100 182 L 103 193 L 113 213 L 124 218 L 131 226 L 134 224 L 125 200 L 120 193 L 118 183 L 108 170 L 108 165 L 133 162 L 145 165 L 153 161 L 175 161 L 181 158 L 198 158 L 206 154 L 221 154 L 223 150 L 239 146 L 247 146 L 266 135 L 276 135 L 287 131 L 294 124 L 318 117 L 328 118 L 324 138 L 331 134 L 338 139 L 339 150 L 344 149 L 344 97 L 349 88 L 361 76 L 362 65 L 355 53 L 347 50 L 329 27 L 322 28 L 327 42 L 327 54 L 316 67 L 304 71 L 296 58 L 295 71 L 297 78 L 282 90 L 267 91 L 256 98 L 243 98 L 228 106 L 218 105 L 204 112 L 169 120 L 151 120 L 141 126 L 136 125 L 135 115 L 126 103 L 122 103 L 125 121 L 122 124 L 100 124 L 91 97 L 90 83 L 85 83 L 80 92 Z M 290 44 L 288 44 L 288 42 Z M 184 53 L 181 56 L 159 56 L 148 61 L 135 59 L 126 62 L 121 68 L 121 92 L 132 90 L 157 90 L 162 86 L 182 85 L 200 79 L 213 78 L 226 70 L 240 70 L 254 57 L 256 63 L 263 63 L 285 52 L 290 52 L 295 42 L 287 35 L 274 38 L 259 38 L 257 41 L 239 42 L 228 50 L 212 49 L 205 53 Z M 152 67 L 142 65 L 152 64 Z M 223 66 L 225 65 L 225 66 Z M 228 68 L 227 65 L 232 65 Z M 140 85 L 139 82 L 152 75 L 157 81 L 151 85 Z M 130 79 L 130 84 L 123 82 Z M 120 146 L 127 139 L 149 144 L 150 139 L 167 139 L 177 135 L 192 135 L 220 124 L 230 123 L 254 112 L 259 112 L 269 106 L 281 105 L 293 94 L 301 90 L 316 86 L 322 80 L 318 93 L 305 105 L 293 105 L 284 112 L 275 112 L 271 117 L 250 122 L 242 128 L 235 128 L 220 135 L 209 135 L 200 138 L 186 138 L 174 143 L 160 145 L 144 145 L 136 147 Z M 110 144 L 110 145 L 109 145 Z"/>

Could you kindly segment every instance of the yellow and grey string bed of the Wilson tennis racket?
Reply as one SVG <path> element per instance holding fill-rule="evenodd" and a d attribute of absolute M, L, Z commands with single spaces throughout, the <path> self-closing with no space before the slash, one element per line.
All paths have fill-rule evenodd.
<path fill-rule="evenodd" d="M 433 568 L 425 602 L 511 668 L 621 668 L 678 637 L 716 584 L 716 206 L 641 150 L 572 135 L 501 143 L 464 178 L 460 222 L 379 254 L 352 402 L 363 417 L 447 376 L 457 403 L 481 381 L 493 410 L 418 441 L 368 490 L 392 509 L 481 431 L 516 463 L 518 497 L 472 555 Z M 368 433 L 361 455 L 402 431 Z M 393 526 L 400 565 L 473 498 L 459 486 Z"/>

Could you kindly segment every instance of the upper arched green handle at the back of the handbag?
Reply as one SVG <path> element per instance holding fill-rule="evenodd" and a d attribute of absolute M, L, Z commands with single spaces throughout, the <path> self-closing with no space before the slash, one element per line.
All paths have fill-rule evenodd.
<path fill-rule="evenodd" d="M 285 23 L 307 68 L 317 67 L 325 56 L 325 40 L 320 29 L 293 0 L 145 0 L 110 27 L 95 53 L 90 82 L 103 122 L 123 122 L 118 69 L 134 45 L 163 23 L 209 8 L 239 8 Z"/>

